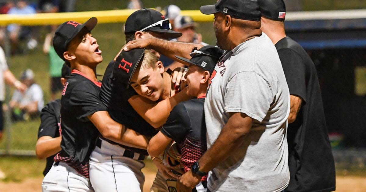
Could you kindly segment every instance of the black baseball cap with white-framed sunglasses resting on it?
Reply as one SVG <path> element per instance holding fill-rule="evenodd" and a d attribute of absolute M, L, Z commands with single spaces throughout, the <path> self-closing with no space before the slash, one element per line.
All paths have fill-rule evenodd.
<path fill-rule="evenodd" d="M 161 22 L 160 25 L 148 27 L 150 25 L 157 24 L 158 22 Z M 146 27 L 148 28 L 145 29 Z M 156 10 L 146 8 L 133 12 L 128 16 L 124 25 L 124 34 L 141 30 L 165 33 L 165 36 L 168 38 L 177 38 L 182 36 L 182 33 L 171 30 L 169 19 L 165 19 L 164 15 Z"/>

